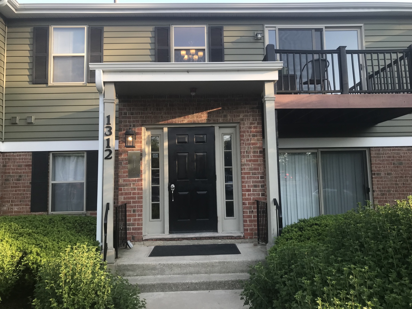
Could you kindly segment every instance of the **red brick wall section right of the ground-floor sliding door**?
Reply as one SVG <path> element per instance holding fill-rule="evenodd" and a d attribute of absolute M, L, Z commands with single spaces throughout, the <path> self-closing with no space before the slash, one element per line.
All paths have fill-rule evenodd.
<path fill-rule="evenodd" d="M 412 194 L 412 147 L 372 147 L 370 159 L 375 204 L 394 204 Z"/>

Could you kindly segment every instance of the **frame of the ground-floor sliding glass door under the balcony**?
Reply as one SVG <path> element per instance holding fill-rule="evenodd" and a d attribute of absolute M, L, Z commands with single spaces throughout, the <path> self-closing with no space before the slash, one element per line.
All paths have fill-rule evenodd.
<path fill-rule="evenodd" d="M 369 148 L 363 148 L 363 147 L 358 147 L 358 148 L 300 148 L 300 149 L 279 149 L 279 153 L 283 152 L 316 152 L 316 159 L 317 159 L 317 164 L 318 164 L 318 187 L 319 187 L 319 208 L 320 208 L 320 214 L 324 214 L 324 205 L 323 205 L 323 184 L 322 184 L 322 162 L 321 162 L 321 152 L 326 152 L 326 151 L 356 151 L 356 150 L 361 150 L 366 152 L 366 178 L 368 179 L 368 185 L 370 188 L 369 191 L 369 201 L 373 205 L 373 190 L 372 190 L 372 170 L 371 170 L 371 164 L 370 164 L 370 150 Z M 367 196 L 368 197 L 368 196 Z M 282 197 L 281 197 L 282 198 Z"/>

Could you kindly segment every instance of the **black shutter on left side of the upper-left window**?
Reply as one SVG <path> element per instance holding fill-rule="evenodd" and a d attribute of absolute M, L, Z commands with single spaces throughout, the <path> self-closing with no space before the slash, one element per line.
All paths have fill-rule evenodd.
<path fill-rule="evenodd" d="M 33 84 L 47 84 L 49 76 L 49 27 L 33 28 Z"/>

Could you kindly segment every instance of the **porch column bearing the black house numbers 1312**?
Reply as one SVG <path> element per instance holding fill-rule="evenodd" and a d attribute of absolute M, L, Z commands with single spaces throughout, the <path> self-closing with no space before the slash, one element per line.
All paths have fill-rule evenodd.
<path fill-rule="evenodd" d="M 105 83 L 104 87 L 104 130 L 103 136 L 103 223 L 106 206 L 109 206 L 107 217 L 107 256 L 108 263 L 115 262 L 115 249 L 113 248 L 113 200 L 115 190 L 115 132 L 116 132 L 116 92 L 114 83 Z M 104 241 L 104 229 L 103 237 Z M 104 243 L 103 243 L 104 246 Z"/>

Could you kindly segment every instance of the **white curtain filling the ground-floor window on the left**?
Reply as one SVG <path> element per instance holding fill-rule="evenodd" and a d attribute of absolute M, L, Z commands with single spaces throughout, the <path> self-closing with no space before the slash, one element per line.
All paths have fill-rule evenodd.
<path fill-rule="evenodd" d="M 52 183 L 52 211 L 84 211 L 84 154 L 53 155 L 52 161 L 52 182 L 59 181 Z"/>

